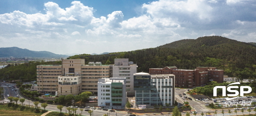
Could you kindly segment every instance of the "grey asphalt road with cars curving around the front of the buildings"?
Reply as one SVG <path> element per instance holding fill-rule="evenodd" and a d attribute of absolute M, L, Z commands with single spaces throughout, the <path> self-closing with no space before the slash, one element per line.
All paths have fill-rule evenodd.
<path fill-rule="evenodd" d="M 12 87 L 15 84 L 8 84 L 7 83 L 2 83 L 2 87 L 4 88 L 5 92 L 4 92 L 4 98 L 5 98 L 5 102 L 9 101 L 7 95 L 9 94 L 9 96 L 13 96 L 16 97 L 18 95 L 17 91 L 12 91 L 15 90 L 15 87 Z M 10 88 L 9 88 L 10 87 Z M 177 102 L 179 102 L 178 107 L 181 107 L 183 105 L 183 102 L 189 102 L 189 104 L 193 107 L 192 111 L 197 111 L 198 113 L 196 114 L 196 116 L 201 116 L 201 112 L 204 113 L 204 115 L 206 116 L 207 112 L 210 112 L 211 115 L 213 116 L 214 111 L 212 109 L 208 109 L 207 107 L 204 106 L 204 102 L 196 102 L 195 99 L 189 100 L 189 99 L 182 99 L 180 96 L 178 96 L 179 94 L 182 93 L 186 93 L 187 89 L 180 89 L 180 90 L 175 90 L 175 99 Z M 190 96 L 188 96 L 190 97 Z M 22 96 L 20 96 L 20 99 L 22 98 Z M 21 102 L 17 102 L 18 104 L 22 104 Z M 23 103 L 24 105 L 30 105 L 30 107 L 34 107 L 34 104 L 31 100 L 26 99 L 25 102 Z M 41 104 L 38 104 L 38 106 L 41 106 Z M 41 107 L 41 109 L 43 109 L 43 107 Z M 58 110 L 56 105 L 52 105 L 52 104 L 48 104 L 48 106 L 45 108 L 46 110 L 51 110 L 51 111 L 57 111 L 60 112 L 60 110 Z M 86 109 L 86 108 L 85 108 Z M 90 109 L 92 110 L 92 109 Z M 236 113 L 234 113 L 234 110 L 232 108 L 232 113 L 229 114 L 228 113 L 228 109 L 224 109 L 224 114 L 221 113 L 222 110 L 217 110 L 217 116 L 230 116 L 230 115 L 236 115 Z M 63 113 L 68 113 L 68 110 L 66 110 L 66 107 L 62 108 Z M 76 111 L 76 113 L 81 113 L 81 111 L 78 110 Z M 124 111 L 116 111 L 116 112 L 109 112 L 109 111 L 105 111 L 105 110 L 93 110 L 93 116 L 102 116 L 103 114 L 108 114 L 109 116 L 127 116 L 127 112 Z M 250 114 L 256 113 L 255 111 L 250 112 Z M 90 116 L 90 114 L 87 111 L 84 111 L 82 114 L 84 116 Z M 186 116 L 186 111 L 181 113 L 183 116 Z M 242 114 L 249 114 L 249 112 L 247 112 L 247 110 L 244 110 L 244 113 L 242 113 L 240 110 L 238 110 L 237 112 L 238 115 L 242 115 Z M 160 113 L 147 113 L 147 115 L 145 115 L 145 113 L 137 113 L 137 116 L 171 116 L 171 114 L 168 113 L 163 113 L 162 115 Z M 192 113 L 190 113 L 191 116 L 193 116 Z M 215 115 L 216 116 L 216 115 Z"/>

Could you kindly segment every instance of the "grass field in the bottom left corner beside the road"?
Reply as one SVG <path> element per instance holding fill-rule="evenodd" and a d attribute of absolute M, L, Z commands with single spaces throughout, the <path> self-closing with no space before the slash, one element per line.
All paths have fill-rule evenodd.
<path fill-rule="evenodd" d="M 0 116 L 41 116 L 43 112 L 35 113 L 32 108 L 20 105 L 0 104 Z"/>

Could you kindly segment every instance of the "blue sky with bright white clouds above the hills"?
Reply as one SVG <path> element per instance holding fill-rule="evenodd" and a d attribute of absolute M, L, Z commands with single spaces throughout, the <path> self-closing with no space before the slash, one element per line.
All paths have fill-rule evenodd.
<path fill-rule="evenodd" d="M 100 54 L 212 35 L 256 42 L 256 0 L 0 0 L 0 47 Z"/>

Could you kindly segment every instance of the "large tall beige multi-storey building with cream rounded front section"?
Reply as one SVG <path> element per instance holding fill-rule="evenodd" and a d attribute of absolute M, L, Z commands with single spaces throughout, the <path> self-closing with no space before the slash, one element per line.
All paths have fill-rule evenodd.
<path fill-rule="evenodd" d="M 58 95 L 77 95 L 90 91 L 97 95 L 98 78 L 110 77 L 110 66 L 84 59 L 62 59 L 62 65 L 37 66 L 37 91 Z"/>

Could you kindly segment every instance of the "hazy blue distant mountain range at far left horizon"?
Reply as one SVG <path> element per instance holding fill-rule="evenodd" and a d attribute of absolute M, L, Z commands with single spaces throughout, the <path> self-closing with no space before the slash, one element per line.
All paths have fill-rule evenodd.
<path fill-rule="evenodd" d="M 18 47 L 2 47 L 0 48 L 0 58 L 20 58 L 20 57 L 68 57 L 68 55 L 58 55 L 47 51 L 32 51 L 29 49 L 21 49 Z"/>

